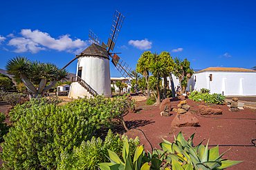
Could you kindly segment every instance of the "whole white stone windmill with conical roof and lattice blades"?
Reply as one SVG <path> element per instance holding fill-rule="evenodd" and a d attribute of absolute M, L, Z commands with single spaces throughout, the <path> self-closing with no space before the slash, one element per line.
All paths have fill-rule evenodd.
<path fill-rule="evenodd" d="M 113 65 L 115 65 L 122 76 L 131 77 L 131 67 L 125 63 L 120 56 L 113 52 L 124 19 L 125 17 L 116 10 L 107 45 L 89 30 L 89 41 L 91 41 L 92 44 L 75 57 L 75 59 L 77 59 L 77 73 L 76 76 L 72 78 L 71 90 L 68 94 L 69 98 L 99 94 L 110 97 L 110 58 L 112 59 L 111 62 Z M 75 61 L 75 59 L 69 62 L 65 67 Z"/>

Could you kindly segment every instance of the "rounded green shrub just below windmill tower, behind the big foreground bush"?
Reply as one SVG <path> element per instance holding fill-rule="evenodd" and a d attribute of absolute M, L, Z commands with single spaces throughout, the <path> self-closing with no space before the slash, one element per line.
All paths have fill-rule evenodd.
<path fill-rule="evenodd" d="M 66 104 L 71 111 L 83 116 L 95 129 L 100 127 L 113 127 L 116 123 L 122 123 L 127 129 L 123 115 L 129 112 L 129 108 L 134 107 L 134 103 L 128 99 L 127 95 L 116 96 L 114 98 L 80 98 Z"/>

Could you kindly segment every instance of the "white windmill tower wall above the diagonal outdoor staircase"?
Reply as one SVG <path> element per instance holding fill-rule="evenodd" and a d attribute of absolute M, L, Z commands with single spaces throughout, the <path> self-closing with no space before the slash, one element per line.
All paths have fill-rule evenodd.
<path fill-rule="evenodd" d="M 78 67 L 82 67 L 81 78 L 87 84 L 98 94 L 104 94 L 104 97 L 111 97 L 109 59 L 81 57 L 77 59 L 77 73 Z"/>

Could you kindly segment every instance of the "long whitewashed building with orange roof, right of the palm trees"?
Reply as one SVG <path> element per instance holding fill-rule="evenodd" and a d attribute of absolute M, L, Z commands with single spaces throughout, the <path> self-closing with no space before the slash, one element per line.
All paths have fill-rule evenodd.
<path fill-rule="evenodd" d="M 179 85 L 179 79 L 172 74 L 174 86 Z M 170 81 L 170 78 L 167 78 Z M 256 71 L 236 67 L 208 67 L 195 72 L 188 81 L 187 91 L 210 89 L 210 94 L 223 96 L 256 96 Z"/>

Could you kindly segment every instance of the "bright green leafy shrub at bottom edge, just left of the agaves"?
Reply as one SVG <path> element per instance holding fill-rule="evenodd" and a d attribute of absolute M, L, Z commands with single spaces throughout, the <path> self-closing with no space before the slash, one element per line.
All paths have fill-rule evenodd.
<path fill-rule="evenodd" d="M 117 134 L 113 135 L 109 129 L 104 142 L 100 138 L 93 137 L 87 142 L 83 141 L 80 147 L 74 147 L 73 153 L 62 153 L 62 161 L 58 164 L 57 169 L 98 169 L 100 162 L 107 162 L 109 153 L 107 149 L 114 151 L 118 156 L 122 157 L 122 146 L 124 145 L 127 136 L 122 138 Z M 140 144 L 138 137 L 135 140 L 128 140 L 131 155 L 134 154 L 136 147 Z"/>

